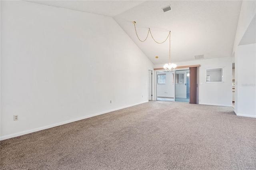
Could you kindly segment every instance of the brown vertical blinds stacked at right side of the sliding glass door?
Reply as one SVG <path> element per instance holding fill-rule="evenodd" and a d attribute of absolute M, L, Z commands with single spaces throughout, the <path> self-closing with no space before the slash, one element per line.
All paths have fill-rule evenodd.
<path fill-rule="evenodd" d="M 197 100 L 197 69 L 198 67 L 190 67 L 190 103 L 198 104 Z"/>

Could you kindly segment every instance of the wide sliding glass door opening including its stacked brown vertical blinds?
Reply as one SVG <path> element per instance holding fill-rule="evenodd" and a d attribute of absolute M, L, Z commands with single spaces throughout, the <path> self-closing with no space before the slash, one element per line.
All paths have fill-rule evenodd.
<path fill-rule="evenodd" d="M 198 104 L 199 67 L 190 65 L 175 71 L 156 71 L 156 100 Z"/>

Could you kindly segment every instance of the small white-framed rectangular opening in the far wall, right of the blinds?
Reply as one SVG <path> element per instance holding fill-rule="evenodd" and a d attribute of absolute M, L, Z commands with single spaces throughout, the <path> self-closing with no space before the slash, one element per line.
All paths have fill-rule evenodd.
<path fill-rule="evenodd" d="M 206 69 L 206 83 L 223 82 L 223 68 Z"/>

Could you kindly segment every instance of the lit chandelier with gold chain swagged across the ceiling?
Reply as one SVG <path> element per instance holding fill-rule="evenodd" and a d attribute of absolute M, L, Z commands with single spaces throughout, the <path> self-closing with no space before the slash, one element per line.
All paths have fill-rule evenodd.
<path fill-rule="evenodd" d="M 138 34 L 137 34 L 136 26 L 135 26 L 136 22 L 134 21 L 134 22 L 132 22 L 132 23 L 134 24 L 136 36 L 137 36 L 138 39 L 140 40 L 140 38 L 139 38 L 139 36 L 138 36 Z M 168 34 L 167 38 L 164 40 L 164 42 L 157 42 L 157 41 L 153 38 L 153 36 L 152 36 L 152 34 L 151 34 L 151 31 L 150 31 L 150 28 L 148 28 L 148 34 L 149 34 L 149 33 L 150 33 L 152 39 L 153 39 L 156 43 L 164 43 L 164 42 L 166 42 L 166 40 L 167 40 L 168 37 L 169 37 L 169 63 L 164 65 L 164 69 L 165 69 L 166 71 L 174 71 L 174 69 L 177 67 L 177 65 L 174 64 L 174 63 L 171 63 L 171 32 L 169 32 L 169 34 Z M 147 35 L 147 37 L 146 37 L 145 40 L 140 40 L 140 41 L 141 41 L 141 42 L 144 42 L 144 41 L 147 40 L 147 38 L 148 38 L 148 35 Z"/>

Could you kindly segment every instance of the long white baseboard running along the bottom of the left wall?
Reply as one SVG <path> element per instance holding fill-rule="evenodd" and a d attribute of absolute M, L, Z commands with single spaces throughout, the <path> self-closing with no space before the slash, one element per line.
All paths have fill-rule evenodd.
<path fill-rule="evenodd" d="M 108 110 L 108 111 L 104 111 L 104 112 L 100 112 L 100 113 L 95 113 L 95 114 L 92 114 L 92 115 L 87 115 L 87 116 L 84 116 L 84 117 L 79 117 L 79 118 L 76 118 L 76 119 L 71 119 L 71 120 L 68 120 L 68 121 L 64 121 L 64 122 L 60 122 L 60 123 L 55 123 L 55 124 L 52 124 L 52 125 L 47 125 L 47 126 L 44 126 L 44 127 L 34 128 L 34 129 L 31 129 L 31 130 L 25 130 L 25 131 L 14 133 L 14 134 L 8 134 L 6 136 L 1 136 L 0 140 L 14 138 L 14 137 L 21 136 L 21 135 L 24 135 L 24 134 L 29 134 L 29 133 L 32 133 L 32 132 L 37 132 L 37 131 L 48 129 L 48 128 L 52 128 L 52 127 L 57 127 L 57 126 L 64 125 L 64 124 L 67 124 L 67 123 L 72 123 L 72 122 L 75 122 L 75 121 L 80 121 L 82 119 L 87 119 L 87 118 L 90 118 L 90 117 L 94 117 L 94 116 L 98 116 L 98 115 L 103 115 L 105 113 L 110 113 L 110 112 L 113 112 L 113 111 L 118 111 L 120 109 L 125 109 L 127 107 L 132 107 L 132 106 L 140 105 L 142 103 L 147 103 L 147 102 L 148 101 L 144 101 L 144 102 L 136 103 L 136 104 L 133 104 L 133 105 L 128 105 L 128 106 L 125 106 L 125 107 L 119 107 L 119 108 L 116 108 L 116 109 L 112 109 L 112 110 Z"/>

